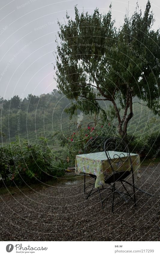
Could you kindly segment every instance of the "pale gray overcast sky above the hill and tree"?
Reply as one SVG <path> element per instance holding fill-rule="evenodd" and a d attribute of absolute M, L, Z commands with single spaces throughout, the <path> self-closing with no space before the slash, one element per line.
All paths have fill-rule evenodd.
<path fill-rule="evenodd" d="M 56 88 L 52 63 L 56 50 L 57 19 L 63 22 L 66 10 L 74 18 L 74 5 L 80 12 L 108 12 L 112 2 L 112 17 L 116 27 L 122 25 L 128 0 L 1 0 L 0 1 L 0 96 L 40 95 Z M 135 11 L 137 0 L 129 1 L 129 15 Z M 147 0 L 139 0 L 144 11 Z M 160 2 L 151 1 L 155 14 L 153 28 L 159 27 Z M 25 46 L 25 49 L 23 48 Z"/>

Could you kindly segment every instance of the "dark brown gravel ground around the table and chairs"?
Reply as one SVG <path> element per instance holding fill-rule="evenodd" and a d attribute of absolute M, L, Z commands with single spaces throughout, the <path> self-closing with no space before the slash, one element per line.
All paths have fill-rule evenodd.
<path fill-rule="evenodd" d="M 1 195 L 0 240 L 158 241 L 159 170 L 160 165 L 142 167 L 136 182 L 153 197 L 137 194 L 136 207 L 131 201 L 119 203 L 114 213 L 111 198 L 105 201 L 104 210 L 97 193 L 84 199 L 82 176 L 71 179 L 68 175 L 52 186 L 15 188 L 14 193 Z"/>

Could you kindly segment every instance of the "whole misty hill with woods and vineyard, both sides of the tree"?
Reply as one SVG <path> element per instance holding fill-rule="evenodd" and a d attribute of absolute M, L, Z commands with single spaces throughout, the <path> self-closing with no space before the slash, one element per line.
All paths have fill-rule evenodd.
<path fill-rule="evenodd" d="M 155 124 L 154 130 L 159 130 L 160 118 L 134 99 L 133 118 L 129 122 L 128 132 L 132 134 L 146 133 Z M 109 103 L 103 107 L 109 109 Z M 52 93 L 35 96 L 29 94 L 27 98 L 20 99 L 14 96 L 11 100 L 0 98 L 1 131 L 6 135 L 4 141 L 15 139 L 16 135 L 24 138 L 47 136 L 52 131 L 65 130 L 72 122 L 64 112 L 70 106 L 70 101 L 57 90 Z M 93 116 L 85 116 L 82 122 L 93 122 Z M 73 122 L 77 117 L 74 117 Z M 113 119 L 114 125 L 117 120 Z"/>

